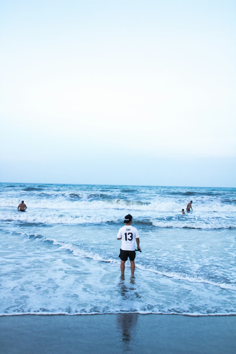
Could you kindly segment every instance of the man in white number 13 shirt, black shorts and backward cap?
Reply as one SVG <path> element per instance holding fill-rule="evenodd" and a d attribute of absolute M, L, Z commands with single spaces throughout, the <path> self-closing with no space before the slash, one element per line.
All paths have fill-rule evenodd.
<path fill-rule="evenodd" d="M 135 227 L 131 226 L 132 222 L 132 215 L 126 215 L 124 220 L 125 226 L 121 227 L 117 234 L 117 240 L 121 240 L 121 249 L 119 255 L 121 259 L 121 274 L 125 274 L 125 262 L 127 261 L 128 257 L 130 261 L 131 274 L 134 274 L 134 258 L 136 256 L 134 240 L 136 240 L 137 248 L 138 250 L 140 250 L 138 230 Z"/>

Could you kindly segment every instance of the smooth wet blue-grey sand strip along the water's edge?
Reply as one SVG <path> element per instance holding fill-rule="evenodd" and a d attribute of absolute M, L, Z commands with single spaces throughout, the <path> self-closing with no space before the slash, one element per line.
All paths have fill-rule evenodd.
<path fill-rule="evenodd" d="M 233 354 L 236 316 L 19 315 L 0 317 L 2 354 Z"/>

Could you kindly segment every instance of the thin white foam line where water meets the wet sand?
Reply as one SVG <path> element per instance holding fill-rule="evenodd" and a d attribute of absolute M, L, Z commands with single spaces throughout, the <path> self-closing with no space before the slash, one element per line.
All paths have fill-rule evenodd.
<path fill-rule="evenodd" d="M 35 316 L 55 316 L 55 315 L 67 315 L 67 316 L 78 316 L 78 315 L 119 315 L 126 313 L 137 313 L 140 315 L 180 315 L 180 316 L 191 316 L 191 317 L 202 317 L 202 316 L 235 316 L 236 312 L 229 313 L 178 313 L 178 312 L 151 312 L 151 311 L 134 311 L 134 312 L 76 312 L 76 313 L 67 313 L 67 312 L 22 312 L 22 313 L 0 313 L 0 317 L 3 316 L 22 316 L 22 315 L 35 315 Z"/>

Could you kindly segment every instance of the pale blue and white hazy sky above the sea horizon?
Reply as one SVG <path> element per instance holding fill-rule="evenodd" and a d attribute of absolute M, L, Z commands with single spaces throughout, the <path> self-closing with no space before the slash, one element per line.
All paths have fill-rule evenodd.
<path fill-rule="evenodd" d="M 236 187 L 235 14 L 2 0 L 0 181 Z"/>

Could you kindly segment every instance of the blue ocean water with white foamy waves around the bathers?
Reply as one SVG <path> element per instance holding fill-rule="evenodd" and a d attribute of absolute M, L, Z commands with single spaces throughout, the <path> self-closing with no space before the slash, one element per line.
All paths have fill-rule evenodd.
<path fill-rule="evenodd" d="M 122 277 L 127 213 L 142 253 Z M 235 188 L 0 183 L 0 220 L 0 315 L 236 314 Z"/>

